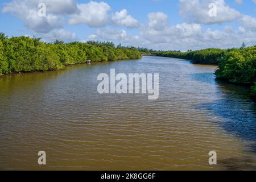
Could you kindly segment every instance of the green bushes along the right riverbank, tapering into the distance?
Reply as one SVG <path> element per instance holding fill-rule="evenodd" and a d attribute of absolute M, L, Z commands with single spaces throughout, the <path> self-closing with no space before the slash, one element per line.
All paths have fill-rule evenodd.
<path fill-rule="evenodd" d="M 192 60 L 196 64 L 218 65 L 217 78 L 228 80 L 236 84 L 251 85 L 251 93 L 256 97 L 256 46 L 246 48 L 216 49 L 209 48 L 200 51 L 152 51 L 138 48 L 143 54 L 175 57 Z"/>

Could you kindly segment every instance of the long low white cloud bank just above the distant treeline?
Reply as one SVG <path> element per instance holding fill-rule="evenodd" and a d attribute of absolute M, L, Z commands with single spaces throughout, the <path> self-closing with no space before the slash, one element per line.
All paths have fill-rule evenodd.
<path fill-rule="evenodd" d="M 245 16 L 244 19 L 251 17 Z M 133 45 L 152 49 L 181 50 L 203 49 L 209 47 L 230 48 L 239 47 L 242 42 L 253 45 L 256 42 L 254 22 L 244 20 L 238 30 L 226 26 L 224 31 L 204 28 L 198 23 L 180 23 L 172 25 L 168 16 L 161 12 L 148 14 L 148 23 L 139 28 L 139 34 L 129 35 L 125 30 L 104 28 L 97 30 L 88 37 L 90 40 L 108 40 L 123 45 Z M 242 23 L 241 23 L 242 24 Z M 160 27 L 160 28 L 159 28 Z"/>

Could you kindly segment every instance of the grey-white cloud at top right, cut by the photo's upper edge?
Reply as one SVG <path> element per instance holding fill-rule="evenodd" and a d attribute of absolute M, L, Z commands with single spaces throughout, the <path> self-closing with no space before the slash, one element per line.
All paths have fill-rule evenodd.
<path fill-rule="evenodd" d="M 180 0 L 180 14 L 193 23 L 224 23 L 236 20 L 241 14 L 228 5 L 224 0 Z M 216 16 L 209 16 L 209 5 L 216 5 Z"/>

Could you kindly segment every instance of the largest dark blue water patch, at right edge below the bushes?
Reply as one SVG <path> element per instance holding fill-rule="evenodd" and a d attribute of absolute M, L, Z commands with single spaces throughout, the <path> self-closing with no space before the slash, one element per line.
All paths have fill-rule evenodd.
<path fill-rule="evenodd" d="M 253 103 L 228 94 L 227 98 L 200 104 L 197 107 L 210 110 L 211 114 L 224 118 L 219 123 L 220 126 L 242 140 L 251 141 L 250 149 L 256 152 L 256 115 Z"/>

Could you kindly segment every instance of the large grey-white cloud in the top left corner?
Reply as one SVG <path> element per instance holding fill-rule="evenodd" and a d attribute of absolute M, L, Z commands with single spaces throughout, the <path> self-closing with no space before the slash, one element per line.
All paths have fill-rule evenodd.
<path fill-rule="evenodd" d="M 46 3 L 46 16 L 38 16 L 39 2 Z M 64 24 L 63 15 L 76 12 L 76 3 L 73 0 L 16 0 L 5 3 L 2 12 L 10 13 L 21 19 L 28 29 L 34 32 L 46 33 Z"/>

